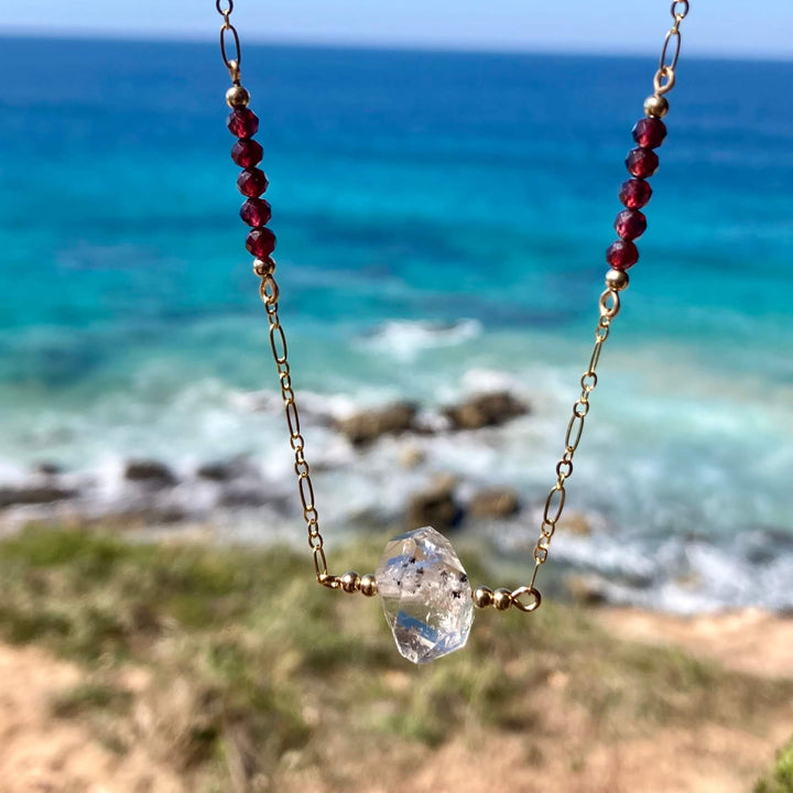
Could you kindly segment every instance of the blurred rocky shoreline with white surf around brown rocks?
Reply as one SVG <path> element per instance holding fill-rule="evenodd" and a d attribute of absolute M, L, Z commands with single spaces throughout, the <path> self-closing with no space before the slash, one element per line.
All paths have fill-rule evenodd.
<path fill-rule="evenodd" d="M 192 532 L 219 543 L 303 543 L 304 522 L 284 427 L 272 393 L 246 395 L 267 414 L 264 449 L 224 458 L 115 459 L 95 470 L 41 460 L 0 484 L 0 535 L 28 524 L 135 530 L 142 536 Z M 335 541 L 432 525 L 459 532 L 499 577 L 522 578 L 550 481 L 504 450 L 545 432 L 543 409 L 510 390 L 474 392 L 433 409 L 404 401 L 345 410 L 316 394 L 302 404 L 304 434 Z M 274 444 L 278 443 L 278 446 Z M 251 448 L 256 448 L 253 441 Z M 512 445 L 513 448 L 513 445 Z M 510 454 L 514 454 L 512 450 Z M 554 536 L 544 591 L 586 605 L 636 606 L 675 613 L 761 607 L 793 611 L 793 535 L 748 526 L 732 536 L 647 531 L 609 511 L 577 478 Z M 580 504 L 584 504 L 583 507 Z M 457 542 L 457 541 L 455 541 Z M 741 586 L 736 590 L 736 571 Z"/>

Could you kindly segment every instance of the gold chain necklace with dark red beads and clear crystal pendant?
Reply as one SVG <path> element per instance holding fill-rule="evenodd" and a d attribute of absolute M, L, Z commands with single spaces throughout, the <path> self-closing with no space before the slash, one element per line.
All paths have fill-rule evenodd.
<path fill-rule="evenodd" d="M 540 536 L 533 551 L 534 567 L 526 585 L 515 589 L 501 587 L 495 590 L 486 586 L 472 589 L 452 544 L 431 526 L 393 537 L 387 544 L 374 574 L 361 576 L 350 571 L 337 576 L 328 573 L 325 540 L 319 531 L 319 514 L 292 384 L 286 335 L 279 316 L 280 291 L 275 281 L 275 261 L 272 258 L 275 236 L 267 226 L 271 217 L 270 204 L 261 197 L 268 188 L 268 178 L 258 167 L 262 160 L 262 146 L 253 139 L 259 130 L 259 119 L 248 108 L 250 95 L 241 83 L 240 40 L 230 20 L 233 0 L 216 0 L 215 6 L 222 17 L 220 54 L 232 84 L 226 93 L 226 101 L 231 108 L 228 128 L 238 139 L 231 149 L 231 159 L 242 167 L 237 186 L 247 198 L 240 209 L 240 217 L 251 227 L 246 248 L 254 257 L 253 272 L 260 279 L 259 295 L 269 322 L 270 347 L 286 414 L 289 442 L 294 454 L 294 471 L 308 533 L 314 574 L 317 582 L 328 589 L 360 593 L 366 597 L 380 595 L 399 652 L 414 663 L 433 661 L 465 645 L 474 621 L 475 607 L 492 607 L 497 611 L 515 608 L 532 612 L 542 604 L 542 596 L 536 588 L 537 574 L 548 558 L 551 540 L 565 508 L 566 481 L 573 475 L 573 458 L 589 414 L 589 397 L 598 383 L 597 369 L 602 346 L 609 337 L 615 317 L 619 314 L 620 293 L 629 284 L 627 271 L 639 260 L 639 251 L 633 240 L 641 237 L 647 228 L 647 218 L 641 209 L 652 195 L 647 180 L 659 166 L 655 149 L 666 137 L 662 118 L 669 110 L 666 94 L 675 85 L 681 51 L 680 25 L 688 13 L 688 0 L 674 0 L 671 4 L 673 24 L 663 41 L 659 67 L 653 77 L 653 94 L 644 100 L 644 117 L 632 130 L 637 146 L 626 159 L 630 178 L 622 184 L 619 192 L 624 208 L 615 220 L 618 239 L 606 251 L 606 261 L 610 269 L 606 273 L 606 290 L 598 301 L 599 319 L 595 328 L 595 346 L 589 365 L 580 378 L 580 395 L 573 405 L 564 436 L 564 453 L 556 463 L 556 480 L 545 499 Z"/>

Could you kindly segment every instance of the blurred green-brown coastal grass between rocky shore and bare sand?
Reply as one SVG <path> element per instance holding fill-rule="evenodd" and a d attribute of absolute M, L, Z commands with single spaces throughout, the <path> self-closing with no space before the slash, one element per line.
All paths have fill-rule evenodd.
<path fill-rule="evenodd" d="M 334 569 L 373 569 L 380 545 L 341 548 Z M 468 572 L 489 578 L 476 564 Z M 328 736 L 333 751 L 413 757 L 481 729 L 553 732 L 565 708 L 598 740 L 618 740 L 659 726 L 760 724 L 793 697 L 793 681 L 618 641 L 553 602 L 530 616 L 479 613 L 464 652 L 415 667 L 377 599 L 317 586 L 308 554 L 286 547 L 31 528 L 0 542 L 0 638 L 85 670 L 53 715 L 89 724 L 119 753 L 143 742 L 195 774 L 197 790 L 264 790 L 323 762 Z M 756 793 L 793 790 L 786 751 Z M 541 763 L 542 747 L 532 752 Z"/>

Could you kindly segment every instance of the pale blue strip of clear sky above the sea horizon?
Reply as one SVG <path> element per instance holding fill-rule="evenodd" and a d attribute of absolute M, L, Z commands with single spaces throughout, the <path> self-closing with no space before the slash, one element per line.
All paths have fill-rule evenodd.
<path fill-rule="evenodd" d="M 214 0 L 2 6 L 6 35 L 203 40 L 219 22 Z M 793 0 L 691 7 L 688 55 L 793 59 Z M 233 20 L 249 41 L 615 54 L 660 50 L 671 23 L 669 0 L 236 0 Z"/>

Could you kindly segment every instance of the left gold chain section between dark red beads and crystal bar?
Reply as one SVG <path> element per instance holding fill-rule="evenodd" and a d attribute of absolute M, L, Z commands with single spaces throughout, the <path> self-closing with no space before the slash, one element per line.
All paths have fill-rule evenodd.
<path fill-rule="evenodd" d="M 264 268 L 262 269 L 262 265 Z M 300 492 L 301 503 L 303 504 L 303 519 L 308 530 L 308 547 L 314 555 L 314 572 L 317 580 L 326 584 L 332 588 L 338 586 L 338 582 L 334 576 L 328 576 L 327 560 L 325 558 L 325 540 L 319 532 L 319 514 L 317 513 L 314 485 L 311 478 L 311 467 L 305 457 L 305 438 L 301 432 L 300 412 L 295 402 L 295 393 L 292 388 L 292 374 L 289 365 L 289 351 L 286 348 L 286 335 L 284 334 L 281 319 L 279 317 L 279 287 L 274 278 L 275 262 L 270 259 L 267 262 L 257 260 L 254 263 L 254 272 L 261 276 L 259 284 L 259 296 L 264 304 L 270 323 L 270 349 L 275 369 L 278 370 L 279 381 L 281 383 L 281 399 L 284 403 L 286 413 L 286 426 L 290 432 L 290 446 L 294 452 L 294 471 L 297 476 L 297 489 Z"/>

